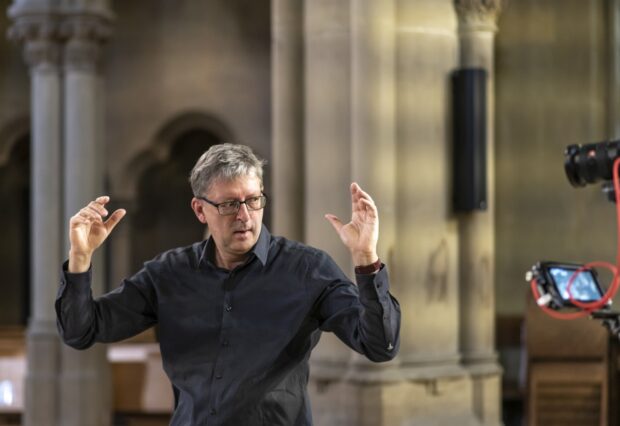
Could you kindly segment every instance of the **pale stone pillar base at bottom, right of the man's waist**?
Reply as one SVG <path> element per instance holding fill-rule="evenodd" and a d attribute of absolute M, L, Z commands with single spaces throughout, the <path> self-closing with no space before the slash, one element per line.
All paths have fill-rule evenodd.
<path fill-rule="evenodd" d="M 501 424 L 499 413 L 493 421 L 480 419 L 472 401 L 479 393 L 483 401 L 496 399 L 498 384 L 498 376 L 467 374 L 374 384 L 312 378 L 309 392 L 316 426 L 486 426 Z"/>

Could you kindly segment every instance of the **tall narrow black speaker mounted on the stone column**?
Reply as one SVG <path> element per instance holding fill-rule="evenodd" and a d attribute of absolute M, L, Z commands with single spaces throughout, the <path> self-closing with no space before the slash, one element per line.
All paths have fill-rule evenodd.
<path fill-rule="evenodd" d="M 453 181 L 457 212 L 487 208 L 487 72 L 463 68 L 452 75 Z"/>

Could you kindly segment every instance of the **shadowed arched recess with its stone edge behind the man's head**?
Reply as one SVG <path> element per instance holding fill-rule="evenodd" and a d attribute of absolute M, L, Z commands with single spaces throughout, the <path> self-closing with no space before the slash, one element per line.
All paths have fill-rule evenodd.
<path fill-rule="evenodd" d="M 149 148 L 128 164 L 122 181 L 127 192 L 121 196 L 130 207 L 131 270 L 162 251 L 205 237 L 204 225 L 190 208 L 189 172 L 206 149 L 230 140 L 232 132 L 219 120 L 184 113 L 165 124 Z"/>

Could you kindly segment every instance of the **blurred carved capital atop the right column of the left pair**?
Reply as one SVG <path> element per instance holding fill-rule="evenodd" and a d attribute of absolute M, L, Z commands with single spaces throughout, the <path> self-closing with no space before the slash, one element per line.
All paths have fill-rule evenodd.
<path fill-rule="evenodd" d="M 65 67 L 70 70 L 95 71 L 101 45 L 112 31 L 107 19 L 100 16 L 74 15 L 62 23 L 65 45 Z"/>

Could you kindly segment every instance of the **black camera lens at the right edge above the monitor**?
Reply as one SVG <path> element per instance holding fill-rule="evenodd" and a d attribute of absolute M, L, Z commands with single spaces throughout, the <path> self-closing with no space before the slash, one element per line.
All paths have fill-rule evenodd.
<path fill-rule="evenodd" d="M 611 180 L 620 141 L 569 145 L 564 151 L 564 170 L 573 186 Z"/>

